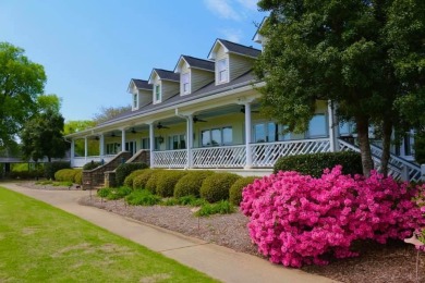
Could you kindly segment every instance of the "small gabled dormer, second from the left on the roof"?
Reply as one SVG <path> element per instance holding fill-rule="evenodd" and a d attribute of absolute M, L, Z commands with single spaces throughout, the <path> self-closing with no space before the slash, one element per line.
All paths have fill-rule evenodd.
<path fill-rule="evenodd" d="M 153 85 L 153 101 L 157 104 L 179 93 L 180 75 L 171 71 L 154 69 L 148 83 Z"/>

